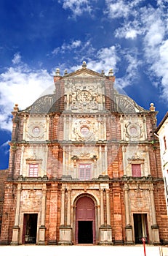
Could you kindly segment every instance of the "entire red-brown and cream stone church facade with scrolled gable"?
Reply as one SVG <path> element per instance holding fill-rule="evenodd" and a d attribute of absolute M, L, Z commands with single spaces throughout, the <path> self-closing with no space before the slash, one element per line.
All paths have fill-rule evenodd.
<path fill-rule="evenodd" d="M 155 107 L 81 69 L 15 105 L 1 244 L 167 244 Z"/>

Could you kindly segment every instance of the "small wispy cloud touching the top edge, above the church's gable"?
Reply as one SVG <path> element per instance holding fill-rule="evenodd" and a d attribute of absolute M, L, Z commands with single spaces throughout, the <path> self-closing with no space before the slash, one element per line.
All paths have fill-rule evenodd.
<path fill-rule="evenodd" d="M 70 9 L 74 18 L 82 15 L 83 12 L 91 13 L 93 10 L 91 0 L 59 0 L 58 2 L 63 4 L 63 9 Z"/>

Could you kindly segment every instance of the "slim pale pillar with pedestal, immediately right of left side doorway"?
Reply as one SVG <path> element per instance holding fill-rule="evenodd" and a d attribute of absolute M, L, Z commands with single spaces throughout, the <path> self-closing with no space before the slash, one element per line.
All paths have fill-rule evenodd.
<path fill-rule="evenodd" d="M 41 226 L 39 227 L 38 244 L 45 244 L 46 184 L 43 184 L 42 192 L 43 196 L 41 200 Z"/>

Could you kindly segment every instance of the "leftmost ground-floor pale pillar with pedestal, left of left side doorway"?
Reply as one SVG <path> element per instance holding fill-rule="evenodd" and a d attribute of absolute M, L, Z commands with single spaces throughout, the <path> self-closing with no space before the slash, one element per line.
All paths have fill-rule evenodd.
<path fill-rule="evenodd" d="M 17 185 L 17 203 L 16 203 L 16 211 L 15 211 L 15 225 L 13 227 L 12 232 L 12 245 L 19 244 L 19 235 L 20 235 L 20 227 L 19 227 L 19 221 L 20 221 L 20 196 L 22 191 L 22 185 Z"/>

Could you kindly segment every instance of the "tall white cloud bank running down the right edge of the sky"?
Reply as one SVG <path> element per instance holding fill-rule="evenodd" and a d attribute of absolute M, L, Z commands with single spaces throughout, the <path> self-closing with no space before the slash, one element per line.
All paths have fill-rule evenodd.
<path fill-rule="evenodd" d="M 153 85 L 160 86 L 162 97 L 168 98 L 168 19 L 161 9 L 146 9 L 142 14 L 145 27 L 144 53 L 148 63 L 148 72 L 153 80 Z M 157 80 L 160 83 L 157 83 Z"/>

